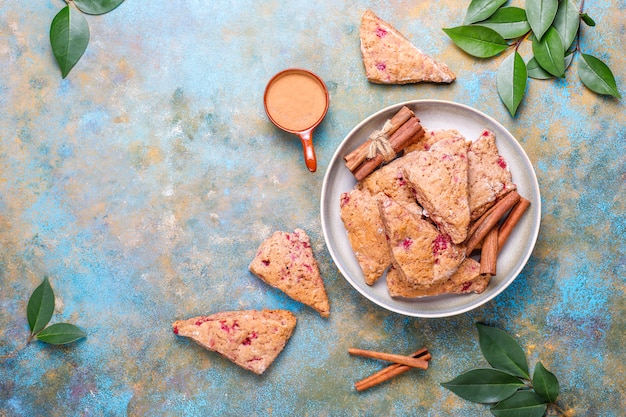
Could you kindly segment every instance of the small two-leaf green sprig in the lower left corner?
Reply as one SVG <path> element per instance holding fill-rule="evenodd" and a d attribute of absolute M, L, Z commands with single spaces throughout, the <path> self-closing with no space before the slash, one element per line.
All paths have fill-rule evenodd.
<path fill-rule="evenodd" d="M 17 351 L 28 345 L 33 339 L 51 345 L 65 345 L 87 337 L 84 331 L 73 324 L 55 323 L 48 326 L 53 313 L 54 292 L 46 277 L 33 291 L 26 307 L 30 336 L 24 344 L 16 348 L 11 354 L 0 356 L 0 358 L 12 358 Z"/>

